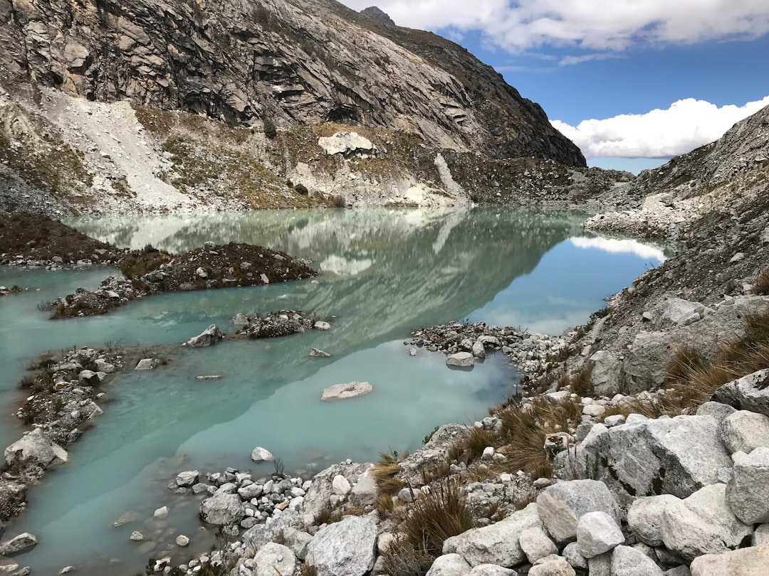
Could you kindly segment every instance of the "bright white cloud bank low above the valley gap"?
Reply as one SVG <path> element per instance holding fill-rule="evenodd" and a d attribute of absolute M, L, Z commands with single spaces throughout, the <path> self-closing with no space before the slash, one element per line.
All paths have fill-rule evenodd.
<path fill-rule="evenodd" d="M 586 158 L 657 158 L 685 154 L 720 138 L 734 123 L 769 105 L 769 96 L 744 106 L 715 104 L 687 98 L 667 110 L 621 114 L 605 120 L 584 120 L 570 126 L 551 124 L 577 144 Z"/>

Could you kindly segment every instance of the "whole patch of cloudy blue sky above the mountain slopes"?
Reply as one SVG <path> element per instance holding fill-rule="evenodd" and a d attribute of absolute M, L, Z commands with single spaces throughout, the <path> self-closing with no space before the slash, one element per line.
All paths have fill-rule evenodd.
<path fill-rule="evenodd" d="M 588 164 L 637 172 L 769 104 L 767 0 L 343 0 L 494 66 Z"/>

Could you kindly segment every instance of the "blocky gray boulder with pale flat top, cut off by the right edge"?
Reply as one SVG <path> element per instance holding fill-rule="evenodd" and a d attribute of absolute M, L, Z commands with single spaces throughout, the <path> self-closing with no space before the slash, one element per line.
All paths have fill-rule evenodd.
<path fill-rule="evenodd" d="M 746 524 L 769 522 L 769 448 L 734 455 L 726 498 L 734 515 Z"/>

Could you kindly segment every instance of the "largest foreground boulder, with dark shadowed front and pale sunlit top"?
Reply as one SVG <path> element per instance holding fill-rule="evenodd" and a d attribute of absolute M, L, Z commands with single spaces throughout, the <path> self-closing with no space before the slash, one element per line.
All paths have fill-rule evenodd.
<path fill-rule="evenodd" d="M 731 458 L 714 418 L 677 416 L 591 431 L 575 464 L 580 475 L 605 482 L 629 503 L 655 494 L 685 498 L 717 482 L 718 469 L 731 467 Z"/>

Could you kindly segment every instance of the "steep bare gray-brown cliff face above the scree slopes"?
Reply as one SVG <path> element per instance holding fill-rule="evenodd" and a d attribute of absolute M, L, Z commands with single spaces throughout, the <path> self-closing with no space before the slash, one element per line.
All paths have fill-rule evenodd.
<path fill-rule="evenodd" d="M 463 48 L 333 0 L 0 0 L 0 67 L 15 87 L 92 101 L 228 124 L 384 127 L 584 166 L 538 104 Z"/>

